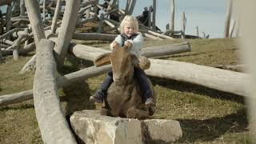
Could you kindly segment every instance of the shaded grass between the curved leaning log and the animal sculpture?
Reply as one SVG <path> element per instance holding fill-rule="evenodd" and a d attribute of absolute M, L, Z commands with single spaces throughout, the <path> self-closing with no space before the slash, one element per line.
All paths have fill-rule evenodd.
<path fill-rule="evenodd" d="M 80 60 L 71 55 L 69 55 L 66 60 L 66 64 L 62 67 L 62 70 L 59 71 L 62 75 L 70 74 L 93 65 L 93 62 Z M 60 101 L 66 102 L 66 106 L 64 108 L 66 115 L 73 114 L 74 111 L 95 108 L 94 103 L 89 101 L 91 95 L 90 87 L 85 80 L 74 82 L 69 86 L 63 87 L 62 92 L 63 96 L 60 97 Z"/>

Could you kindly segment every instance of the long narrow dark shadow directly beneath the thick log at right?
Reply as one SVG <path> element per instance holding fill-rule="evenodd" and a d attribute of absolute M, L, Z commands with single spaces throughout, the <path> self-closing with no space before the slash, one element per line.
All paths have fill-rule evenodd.
<path fill-rule="evenodd" d="M 206 86 L 198 86 L 187 82 L 178 82 L 166 78 L 149 77 L 152 84 L 165 86 L 166 88 L 178 91 L 186 91 L 194 94 L 202 94 L 209 96 L 210 98 L 218 98 L 223 100 L 230 100 L 238 103 L 245 103 L 244 97 L 236 94 L 226 93 L 220 90 L 210 89 Z"/>

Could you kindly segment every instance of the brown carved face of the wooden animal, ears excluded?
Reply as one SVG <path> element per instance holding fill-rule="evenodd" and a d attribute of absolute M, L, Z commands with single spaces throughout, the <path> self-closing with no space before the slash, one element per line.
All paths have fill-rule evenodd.
<path fill-rule="evenodd" d="M 132 58 L 134 56 L 130 54 L 126 46 L 114 46 L 110 54 L 114 82 L 130 82 L 134 74 Z"/>

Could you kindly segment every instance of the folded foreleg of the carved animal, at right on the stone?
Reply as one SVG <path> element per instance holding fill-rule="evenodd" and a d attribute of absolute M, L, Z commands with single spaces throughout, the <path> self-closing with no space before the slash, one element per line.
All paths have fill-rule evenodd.
<path fill-rule="evenodd" d="M 133 107 L 130 107 L 129 110 L 127 110 L 126 116 L 127 118 L 138 118 L 138 119 L 148 118 L 149 111 L 139 110 L 133 106 Z"/>

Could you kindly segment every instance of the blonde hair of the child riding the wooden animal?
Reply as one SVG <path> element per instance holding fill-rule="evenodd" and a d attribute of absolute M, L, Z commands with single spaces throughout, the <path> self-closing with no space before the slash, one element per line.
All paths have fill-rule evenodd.
<path fill-rule="evenodd" d="M 122 19 L 122 22 L 120 24 L 120 31 L 121 34 L 124 34 L 124 27 L 125 26 L 134 26 L 135 33 L 138 33 L 138 20 L 137 18 L 131 16 L 131 15 L 126 15 L 125 18 Z"/>

